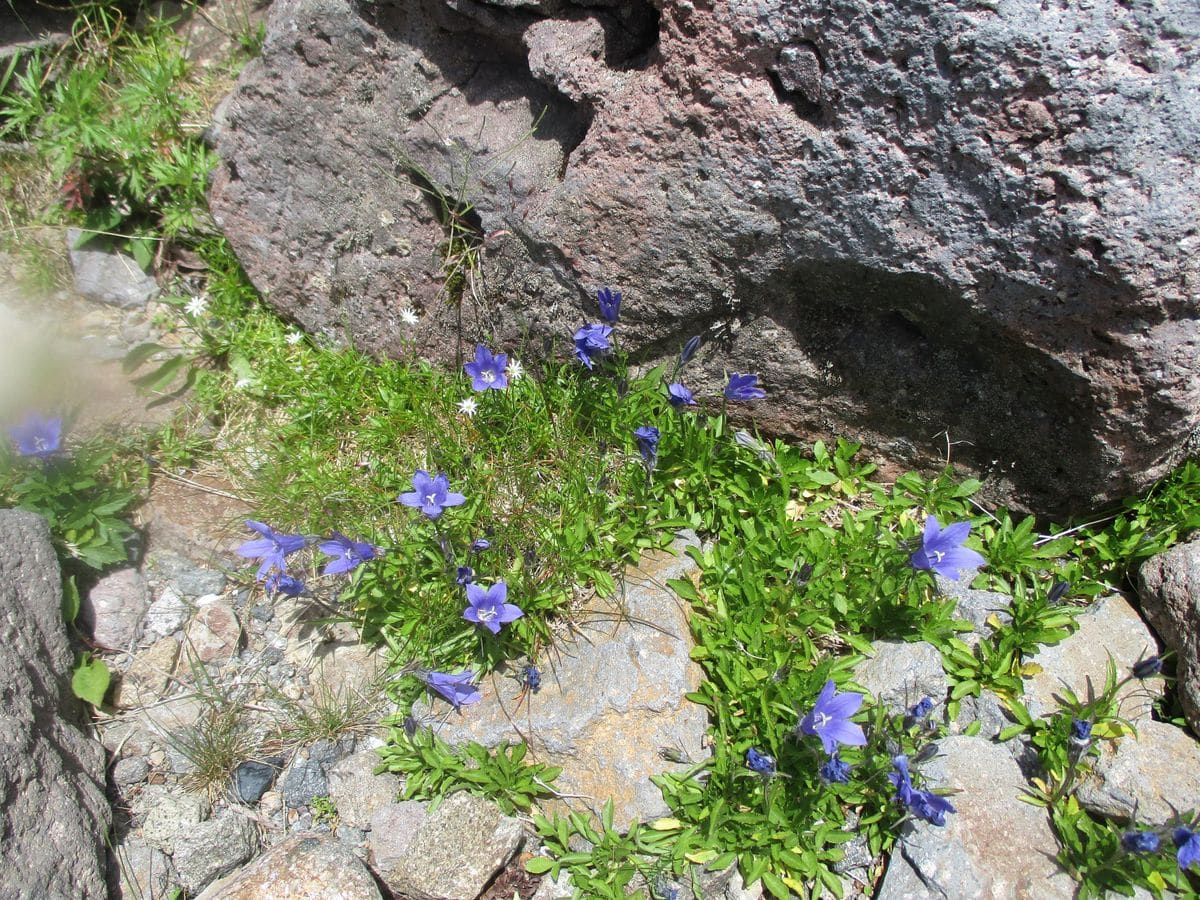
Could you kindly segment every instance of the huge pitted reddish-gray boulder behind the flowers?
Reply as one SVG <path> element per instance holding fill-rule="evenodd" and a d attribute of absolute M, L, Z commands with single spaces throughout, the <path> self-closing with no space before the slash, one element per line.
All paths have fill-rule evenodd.
<path fill-rule="evenodd" d="M 1189 0 L 278 0 L 212 204 L 256 284 L 377 353 L 697 330 L 768 428 L 1080 509 L 1200 421 Z M 402 307 L 421 316 L 403 325 Z M 947 432 L 947 433 L 942 433 Z M 940 436 L 940 437 L 935 437 Z"/>

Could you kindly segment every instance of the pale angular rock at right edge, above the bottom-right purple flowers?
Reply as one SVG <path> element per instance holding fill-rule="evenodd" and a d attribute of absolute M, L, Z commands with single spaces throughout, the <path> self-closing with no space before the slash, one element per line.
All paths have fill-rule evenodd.
<path fill-rule="evenodd" d="M 1091 812 L 1160 826 L 1176 812 L 1200 809 L 1200 744 L 1170 722 L 1138 724 L 1135 736 L 1104 742 L 1092 773 L 1075 791 Z"/>

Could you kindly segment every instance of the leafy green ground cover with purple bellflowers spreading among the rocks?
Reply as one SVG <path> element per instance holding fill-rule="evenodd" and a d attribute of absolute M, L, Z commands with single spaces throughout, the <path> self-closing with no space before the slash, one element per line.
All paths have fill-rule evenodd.
<path fill-rule="evenodd" d="M 1088 816 L 1072 796 L 1096 742 L 1127 728 L 1114 697 L 1136 661 L 1116 660 L 1100 697 L 1068 698 L 1051 718 L 1030 718 L 1020 696 L 1027 656 L 1066 637 L 1080 605 L 1200 527 L 1200 467 L 1188 463 L 1078 527 L 984 509 L 973 500 L 978 482 L 953 472 L 878 481 L 853 444 L 798 448 L 733 426 L 731 406 L 752 419 L 744 378 L 731 396 L 689 404 L 678 386 L 689 350 L 666 368 L 631 366 L 608 294 L 589 330 L 559 336 L 546 361 L 526 348 L 492 360 L 488 371 L 508 382 L 498 390 L 475 390 L 470 374 L 415 356 L 380 361 L 313 341 L 258 300 L 208 220 L 197 185 L 211 157 L 186 125 L 202 118 L 205 89 L 181 49 L 162 23 L 133 30 L 89 5 L 72 47 L 12 74 L 0 134 L 24 143 L 6 151 L 5 178 L 26 185 L 46 172 L 54 190 L 12 192 L 49 200 L 7 206 L 19 223 L 8 246 L 23 251 L 26 228 L 73 222 L 115 235 L 145 263 L 166 242 L 204 260 L 203 294 L 180 286 L 161 323 L 179 348 L 130 356 L 145 388 L 190 389 L 188 412 L 136 452 L 172 470 L 218 468 L 253 498 L 274 529 L 247 534 L 259 541 L 246 554 L 263 563 L 266 589 L 296 590 L 304 580 L 386 647 L 402 703 L 426 690 L 467 703 L 475 680 L 503 662 L 533 677 L 580 593 L 613 590 L 614 572 L 642 550 L 683 527 L 710 539 L 696 552 L 700 584 L 673 587 L 692 606 L 692 656 L 706 679 L 691 700 L 708 710 L 713 752 L 658 780 L 671 817 L 619 833 L 611 809 L 542 816 L 536 802 L 556 773 L 523 748 L 455 750 L 400 720 L 385 762 L 408 776 L 409 796 L 469 790 L 534 812 L 547 856 L 532 870 L 568 870 L 587 896 L 688 895 L 696 866 L 733 863 L 775 896 L 839 895 L 833 866 L 846 841 L 862 835 L 886 853 L 906 816 L 954 815 L 953 797 L 922 785 L 920 761 L 958 701 L 991 690 L 1018 718 L 1007 737 L 1027 734 L 1040 755 L 1032 799 L 1048 806 L 1061 859 L 1085 893 L 1196 887 L 1170 853 L 1123 848 L 1127 828 Z M 487 335 L 467 338 L 488 346 Z M 49 514 L 67 557 L 116 562 L 132 482 L 114 454 L 133 458 L 127 443 L 70 436 L 53 458 L 8 451 L 0 502 Z M 422 493 L 419 472 L 444 473 L 462 503 L 442 497 L 433 516 L 420 496 L 398 499 Z M 986 564 L 965 577 L 1013 598 L 1012 623 L 974 649 L 931 574 L 913 566 L 930 516 L 970 522 L 967 546 Z M 335 546 L 335 532 L 348 542 Z M 275 538 L 287 534 L 304 539 Z M 296 582 L 280 577 L 284 569 Z M 520 617 L 494 605 L 500 583 Z M 852 700 L 850 672 L 878 638 L 937 647 L 949 696 L 928 708 L 913 697 L 905 709 Z"/>

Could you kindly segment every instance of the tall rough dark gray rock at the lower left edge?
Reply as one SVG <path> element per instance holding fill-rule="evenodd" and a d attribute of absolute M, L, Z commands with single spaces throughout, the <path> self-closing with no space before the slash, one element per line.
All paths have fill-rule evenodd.
<path fill-rule="evenodd" d="M 107 898 L 104 750 L 74 724 L 46 522 L 0 510 L 0 895 Z"/>

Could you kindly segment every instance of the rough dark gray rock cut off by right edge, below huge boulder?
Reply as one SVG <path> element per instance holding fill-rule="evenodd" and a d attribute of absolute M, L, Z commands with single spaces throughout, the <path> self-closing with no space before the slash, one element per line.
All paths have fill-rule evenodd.
<path fill-rule="evenodd" d="M 1138 577 L 1141 611 L 1176 654 L 1183 714 L 1200 734 L 1200 539 L 1148 559 Z"/>

